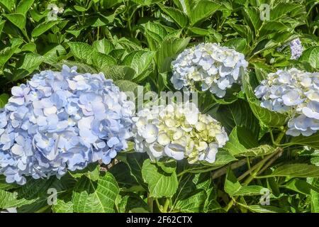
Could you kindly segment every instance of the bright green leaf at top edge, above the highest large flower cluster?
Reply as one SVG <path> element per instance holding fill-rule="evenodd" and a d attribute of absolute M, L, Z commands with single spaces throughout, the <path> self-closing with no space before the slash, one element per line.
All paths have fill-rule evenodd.
<path fill-rule="evenodd" d="M 220 4 L 217 4 L 215 1 L 198 1 L 191 12 L 191 25 L 194 26 L 196 23 L 211 17 L 219 8 Z"/>

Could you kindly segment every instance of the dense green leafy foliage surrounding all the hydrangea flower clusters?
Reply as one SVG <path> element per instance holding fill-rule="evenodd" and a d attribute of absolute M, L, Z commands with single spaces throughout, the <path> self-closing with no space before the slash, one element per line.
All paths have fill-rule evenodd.
<path fill-rule="evenodd" d="M 270 20 L 259 6 L 269 4 Z M 200 94 L 200 110 L 230 135 L 213 165 L 151 163 L 128 149 L 105 167 L 90 165 L 62 179 L 29 179 L 19 187 L 0 176 L 0 209 L 19 212 L 318 212 L 319 134 L 284 135 L 286 116 L 262 109 L 252 89 L 269 72 L 318 71 L 318 0 L 0 0 L 0 107 L 11 87 L 40 70 L 77 65 L 103 72 L 123 91 L 174 91 L 170 62 L 196 43 L 213 42 L 245 54 L 244 91 L 224 99 Z M 49 20 L 48 4 L 64 4 Z M 305 51 L 290 60 L 301 38 Z M 106 171 L 107 170 L 107 171 Z M 47 189 L 57 204 L 47 205 Z M 270 206 L 262 206 L 262 189 Z"/>

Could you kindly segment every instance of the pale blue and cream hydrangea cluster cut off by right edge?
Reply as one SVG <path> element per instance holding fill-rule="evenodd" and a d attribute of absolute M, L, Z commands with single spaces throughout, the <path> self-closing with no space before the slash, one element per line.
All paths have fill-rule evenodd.
<path fill-rule="evenodd" d="M 287 135 L 312 135 L 319 130 L 319 72 L 292 68 L 268 74 L 255 89 L 261 106 L 289 115 Z"/>

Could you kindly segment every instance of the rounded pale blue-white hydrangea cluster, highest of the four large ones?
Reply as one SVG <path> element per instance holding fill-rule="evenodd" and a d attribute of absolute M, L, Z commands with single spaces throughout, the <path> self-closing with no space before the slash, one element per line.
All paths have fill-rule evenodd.
<path fill-rule="evenodd" d="M 218 43 L 201 43 L 184 50 L 172 62 L 172 83 L 175 89 L 191 91 L 199 84 L 202 91 L 209 89 L 221 98 L 226 89 L 240 83 L 240 67 L 247 66 L 242 53 Z"/>

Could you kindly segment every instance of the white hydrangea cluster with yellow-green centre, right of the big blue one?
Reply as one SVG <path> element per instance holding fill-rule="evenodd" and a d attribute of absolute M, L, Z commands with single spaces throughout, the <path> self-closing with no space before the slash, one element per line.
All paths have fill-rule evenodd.
<path fill-rule="evenodd" d="M 147 152 L 151 160 L 166 156 L 212 163 L 228 140 L 220 123 L 191 103 L 142 109 L 133 121 L 135 151 Z"/>

